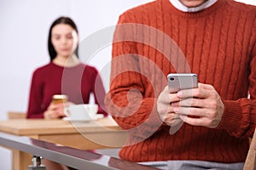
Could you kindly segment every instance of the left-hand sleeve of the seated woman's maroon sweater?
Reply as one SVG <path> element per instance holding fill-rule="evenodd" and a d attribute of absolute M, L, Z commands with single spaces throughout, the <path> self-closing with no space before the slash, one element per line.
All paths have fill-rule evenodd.
<path fill-rule="evenodd" d="M 32 75 L 26 118 L 44 118 L 44 111 L 42 109 L 42 88 L 43 83 L 40 81 L 39 72 L 34 71 Z"/>

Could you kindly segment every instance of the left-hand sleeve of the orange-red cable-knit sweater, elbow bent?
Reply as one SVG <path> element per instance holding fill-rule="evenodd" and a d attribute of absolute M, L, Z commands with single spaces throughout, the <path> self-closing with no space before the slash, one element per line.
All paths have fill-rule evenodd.
<path fill-rule="evenodd" d="M 147 82 L 147 78 L 140 71 L 137 42 L 132 41 L 135 35 L 132 15 L 121 15 L 114 33 L 110 89 L 105 103 L 120 127 L 145 139 L 157 131 L 162 122 L 156 111 L 156 99 L 145 97 L 148 86 L 143 82 Z M 129 17 L 129 21 L 125 17 Z"/>

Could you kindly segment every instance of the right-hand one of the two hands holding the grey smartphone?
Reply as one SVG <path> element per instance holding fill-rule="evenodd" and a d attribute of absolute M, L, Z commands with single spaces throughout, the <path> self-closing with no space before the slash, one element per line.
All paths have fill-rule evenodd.
<path fill-rule="evenodd" d="M 224 104 L 211 85 L 198 84 L 198 88 L 181 90 L 172 110 L 183 122 L 194 126 L 218 127 L 224 113 Z"/>

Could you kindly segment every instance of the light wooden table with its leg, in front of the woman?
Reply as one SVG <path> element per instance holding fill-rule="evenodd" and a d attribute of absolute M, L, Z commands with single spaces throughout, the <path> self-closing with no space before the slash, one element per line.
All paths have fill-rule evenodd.
<path fill-rule="evenodd" d="M 69 122 L 63 120 L 16 119 L 0 122 L 0 131 L 27 136 L 80 150 L 121 147 L 127 138 L 112 118 L 95 122 Z M 13 169 L 25 170 L 32 156 L 13 150 Z"/>

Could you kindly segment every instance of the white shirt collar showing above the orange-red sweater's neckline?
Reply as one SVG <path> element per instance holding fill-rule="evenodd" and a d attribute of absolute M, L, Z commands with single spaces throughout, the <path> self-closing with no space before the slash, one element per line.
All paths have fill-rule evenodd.
<path fill-rule="evenodd" d="M 170 2 L 172 3 L 172 5 L 175 8 L 177 8 L 178 10 L 181 10 L 183 12 L 198 12 L 198 11 L 201 11 L 201 10 L 203 10 L 205 8 L 208 8 L 208 7 L 212 6 L 212 4 L 216 3 L 217 0 L 207 0 L 205 3 L 202 3 L 200 6 L 194 7 L 194 8 L 186 7 L 179 0 L 170 0 Z"/>

